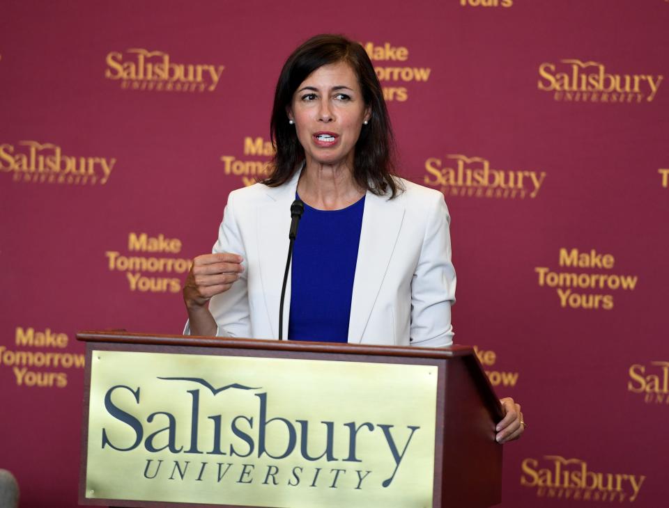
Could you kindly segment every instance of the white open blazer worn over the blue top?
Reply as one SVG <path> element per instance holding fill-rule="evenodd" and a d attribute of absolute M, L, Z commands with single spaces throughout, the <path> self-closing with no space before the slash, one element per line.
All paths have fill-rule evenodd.
<path fill-rule="evenodd" d="M 210 300 L 217 335 L 278 337 L 290 210 L 299 173 L 280 187 L 254 184 L 230 193 L 213 252 L 241 255 L 245 270 L 228 291 Z M 369 191 L 365 196 L 348 342 L 447 346 L 453 340 L 456 278 L 446 203 L 438 191 L 399 182 L 405 190 L 392 200 Z M 290 308 L 289 276 L 284 338 Z M 190 333 L 188 325 L 184 333 Z"/>

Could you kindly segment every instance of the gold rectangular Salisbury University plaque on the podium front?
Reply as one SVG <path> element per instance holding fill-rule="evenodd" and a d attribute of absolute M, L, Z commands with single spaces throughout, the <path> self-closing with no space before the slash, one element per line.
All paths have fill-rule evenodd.
<path fill-rule="evenodd" d="M 431 507 L 437 367 L 93 351 L 86 498 Z"/>

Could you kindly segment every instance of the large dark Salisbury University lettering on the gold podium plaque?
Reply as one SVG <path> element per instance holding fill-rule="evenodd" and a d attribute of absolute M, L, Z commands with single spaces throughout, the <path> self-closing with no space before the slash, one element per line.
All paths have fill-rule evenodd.
<path fill-rule="evenodd" d="M 221 483 L 224 480 L 237 484 L 254 484 L 284 482 L 289 486 L 316 486 L 319 482 L 327 483 L 329 488 L 363 489 L 364 482 L 380 482 L 384 488 L 389 487 L 397 474 L 402 460 L 410 449 L 411 440 L 417 425 L 410 425 L 406 431 L 394 429 L 392 424 L 376 422 L 336 422 L 323 420 L 320 422 L 305 419 L 291 420 L 282 415 L 270 414 L 270 397 L 261 387 L 246 386 L 242 383 L 228 383 L 216 388 L 206 379 L 199 377 L 157 377 L 162 381 L 179 381 L 185 386 L 182 395 L 187 396 L 190 408 L 187 418 L 170 411 L 155 411 L 148 415 L 146 422 L 128 409 L 121 409 L 116 400 L 128 395 L 137 406 L 141 405 L 142 390 L 140 387 L 112 386 L 105 394 L 107 413 L 121 425 L 123 431 L 102 428 L 101 447 L 109 447 L 116 452 L 130 452 L 144 449 L 148 452 L 142 475 L 146 479 L 155 479 L 164 475 L 166 479 L 179 479 L 183 482 Z M 226 411 L 203 411 L 201 391 L 213 397 L 226 390 L 254 391 L 257 411 L 252 413 L 229 414 Z M 174 392 L 178 397 L 178 391 Z M 217 404 L 225 407 L 224 401 Z M 314 427 L 324 427 L 325 432 L 319 434 L 323 439 L 314 438 Z M 178 429 L 190 429 L 186 439 L 178 437 Z M 201 427 L 208 427 L 208 436 L 203 436 Z M 322 429 L 321 429 L 322 430 Z M 128 439 L 128 431 L 132 438 Z M 224 437 L 226 434 L 228 438 Z M 269 436 L 274 435 L 273 438 Z M 370 435 L 383 436 L 387 445 L 388 456 L 392 461 L 386 464 L 384 471 L 373 474 L 371 470 L 357 466 L 364 462 L 360 454 L 359 443 L 369 440 Z M 123 437 L 121 437 L 123 435 Z M 282 438 L 277 438 L 282 436 Z M 403 437 L 400 437 L 403 436 Z M 340 447 L 341 442 L 344 446 Z M 346 450 L 345 454 L 335 452 L 336 448 Z M 153 454 L 167 452 L 180 455 L 172 460 L 154 459 Z M 192 457 L 192 460 L 188 459 Z M 164 457 L 157 455 L 156 457 Z M 183 458 L 182 458 L 183 457 Z M 272 465 L 257 468 L 254 459 L 267 457 L 275 461 Z M 337 467 L 305 468 L 293 466 L 282 467 L 284 459 L 299 459 L 314 463 L 339 463 Z M 195 460 L 197 458 L 197 461 Z M 325 470 L 324 470 L 325 469 Z M 375 479 L 376 477 L 376 479 Z"/>

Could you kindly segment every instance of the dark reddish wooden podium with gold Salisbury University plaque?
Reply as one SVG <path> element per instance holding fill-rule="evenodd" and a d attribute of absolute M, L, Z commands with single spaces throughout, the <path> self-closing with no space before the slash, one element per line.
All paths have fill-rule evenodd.
<path fill-rule="evenodd" d="M 80 505 L 500 502 L 502 412 L 471 347 L 77 339 L 86 342 Z"/>

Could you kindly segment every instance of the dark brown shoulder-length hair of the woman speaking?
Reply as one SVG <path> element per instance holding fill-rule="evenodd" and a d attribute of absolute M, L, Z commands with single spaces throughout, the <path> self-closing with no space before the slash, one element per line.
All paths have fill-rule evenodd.
<path fill-rule="evenodd" d="M 362 189 L 379 196 L 390 190 L 394 198 L 399 182 L 394 179 L 394 138 L 383 90 L 364 48 L 341 35 L 312 37 L 295 49 L 284 64 L 277 82 L 270 121 L 275 157 L 268 177 L 262 182 L 272 187 L 286 183 L 305 160 L 305 150 L 300 145 L 295 127 L 289 125 L 286 108 L 293 102 L 295 90 L 309 74 L 323 65 L 339 62 L 351 65 L 357 75 L 364 104 L 371 110 L 369 123 L 362 127 L 360 138 L 355 143 L 353 178 Z"/>

